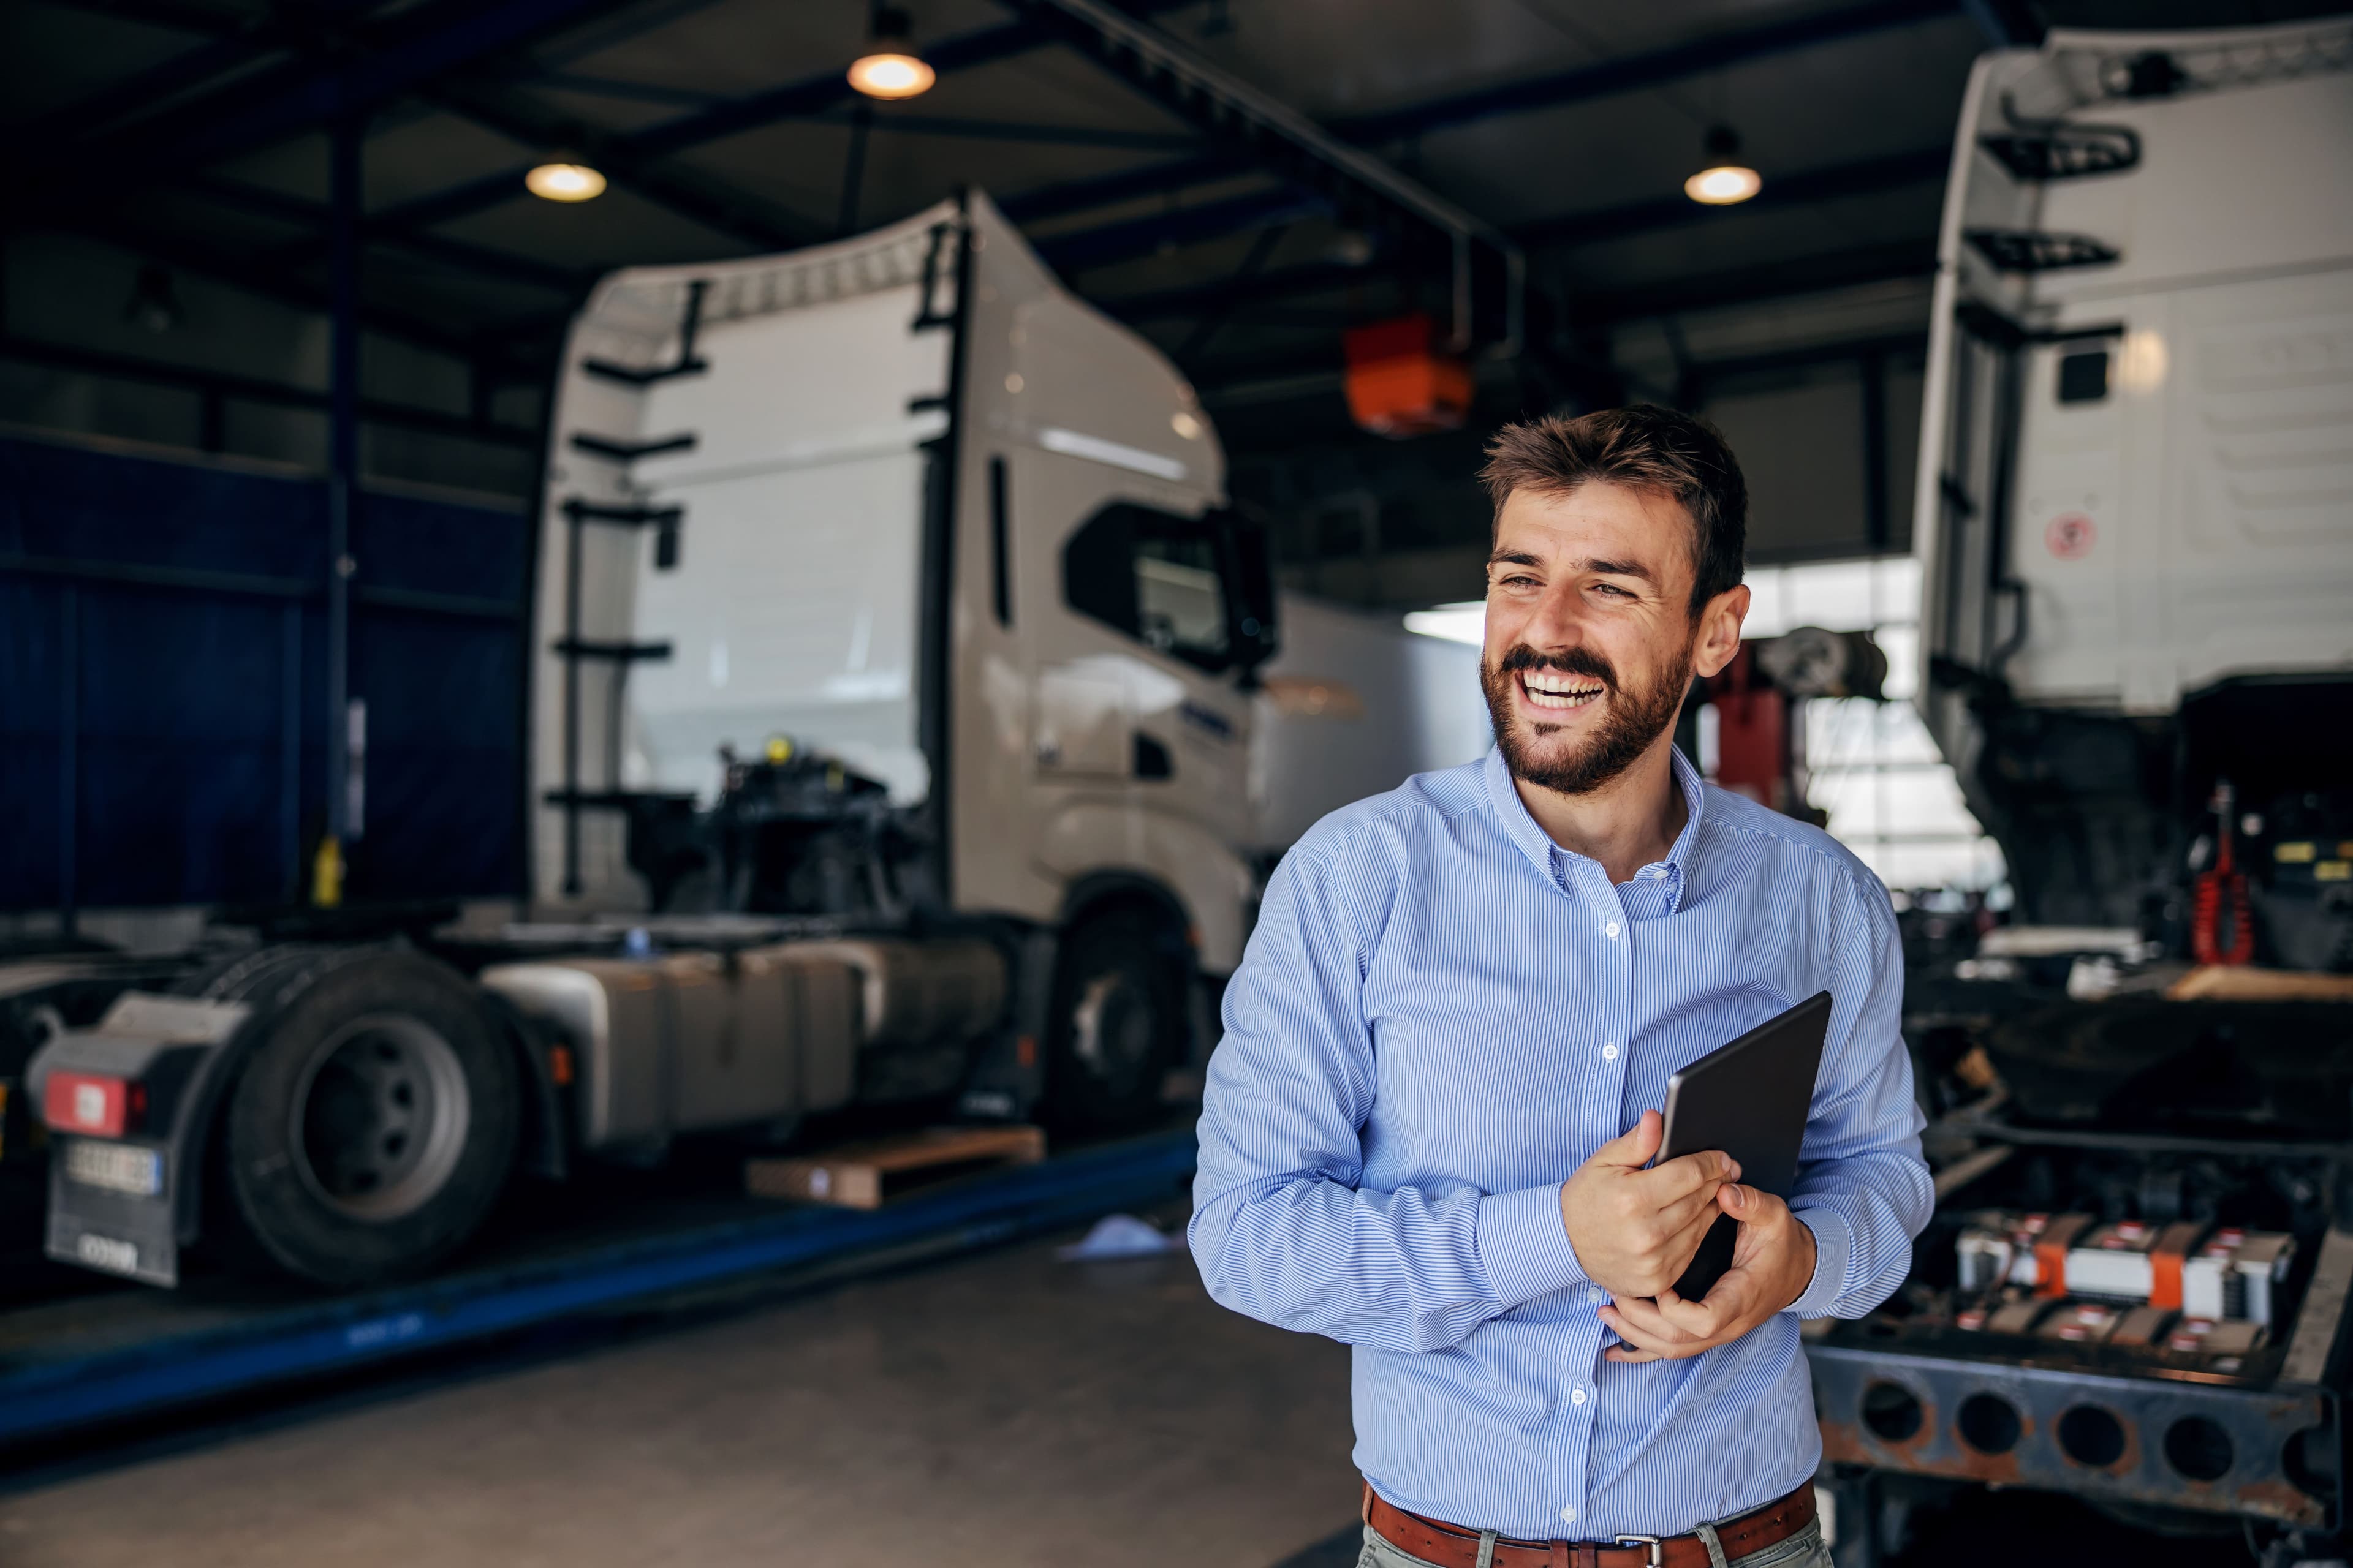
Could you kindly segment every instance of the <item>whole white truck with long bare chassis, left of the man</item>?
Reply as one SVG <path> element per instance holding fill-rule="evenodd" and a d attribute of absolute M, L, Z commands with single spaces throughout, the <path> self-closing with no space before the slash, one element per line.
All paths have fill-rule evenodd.
<path fill-rule="evenodd" d="M 1132 1128 L 1287 837 L 1485 741 L 1379 710 L 1452 654 L 1346 611 L 1299 611 L 1339 668 L 1268 679 L 1268 536 L 1209 416 L 986 195 L 614 273 L 558 376 L 527 919 L 0 966 L 52 1258 L 353 1291 L 518 1171 L 889 1107 Z M 1318 731 L 1369 773 L 1271 773 Z"/>

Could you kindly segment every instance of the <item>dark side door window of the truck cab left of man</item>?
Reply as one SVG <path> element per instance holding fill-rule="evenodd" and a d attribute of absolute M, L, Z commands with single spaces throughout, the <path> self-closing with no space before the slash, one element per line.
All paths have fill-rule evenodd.
<path fill-rule="evenodd" d="M 1115 501 L 1061 550 L 1061 592 L 1082 616 L 1172 658 L 1226 670 L 1226 578 L 1217 531 L 1193 517 Z"/>

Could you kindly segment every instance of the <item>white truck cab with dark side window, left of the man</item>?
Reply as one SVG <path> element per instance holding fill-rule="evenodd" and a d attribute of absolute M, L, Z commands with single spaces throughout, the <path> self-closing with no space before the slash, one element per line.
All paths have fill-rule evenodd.
<path fill-rule="evenodd" d="M 809 912 L 1059 924 L 1127 877 L 1207 971 L 1233 969 L 1249 675 L 1275 646 L 1264 541 L 1224 510 L 1176 369 L 984 195 L 786 256 L 616 273 L 572 331 L 553 430 L 548 907 L 645 910 L 631 825 L 652 832 L 649 802 L 718 804 L 722 752 L 774 738 L 878 783 L 904 851 Z M 678 891 L 727 907 L 704 882 Z"/>

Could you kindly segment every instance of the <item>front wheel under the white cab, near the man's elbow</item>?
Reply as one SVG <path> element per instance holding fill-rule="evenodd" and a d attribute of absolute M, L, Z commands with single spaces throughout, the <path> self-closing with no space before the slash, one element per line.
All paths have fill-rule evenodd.
<path fill-rule="evenodd" d="M 1113 1133 L 1160 1114 L 1184 1058 L 1184 947 L 1136 907 L 1080 917 L 1061 940 L 1045 1117 L 1064 1133 Z"/>

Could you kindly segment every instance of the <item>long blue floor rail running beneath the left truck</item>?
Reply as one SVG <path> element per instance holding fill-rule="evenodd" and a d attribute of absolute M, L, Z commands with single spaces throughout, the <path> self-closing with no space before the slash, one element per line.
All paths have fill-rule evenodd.
<path fill-rule="evenodd" d="M 664 1295 L 882 1253 L 911 1244 L 976 1248 L 1176 1194 L 1193 1133 L 1162 1133 L 972 1178 L 889 1208 L 779 1208 L 678 1234 L 485 1265 L 348 1300 L 306 1300 L 233 1324 L 158 1333 L 106 1349 L 64 1347 L 0 1363 L 0 1443 L 148 1415 L 202 1399 L 332 1375 L 591 1316 Z"/>

